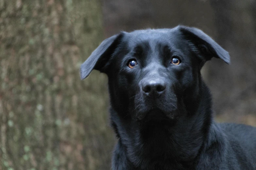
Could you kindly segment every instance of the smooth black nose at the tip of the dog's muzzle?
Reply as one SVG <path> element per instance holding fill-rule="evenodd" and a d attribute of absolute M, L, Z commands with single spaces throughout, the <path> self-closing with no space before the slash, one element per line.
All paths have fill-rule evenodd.
<path fill-rule="evenodd" d="M 142 83 L 142 90 L 149 95 L 160 95 L 166 89 L 163 79 L 157 78 L 153 80 L 145 80 Z"/>

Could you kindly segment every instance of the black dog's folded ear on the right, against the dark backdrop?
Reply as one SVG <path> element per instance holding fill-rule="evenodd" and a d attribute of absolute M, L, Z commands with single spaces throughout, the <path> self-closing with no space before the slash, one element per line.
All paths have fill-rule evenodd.
<path fill-rule="evenodd" d="M 216 57 L 222 59 L 227 64 L 230 64 L 230 55 L 228 51 L 224 50 L 203 31 L 186 26 L 178 26 L 178 29 L 182 32 L 189 43 L 193 44 L 202 61 L 208 61 L 211 60 L 212 57 Z"/>

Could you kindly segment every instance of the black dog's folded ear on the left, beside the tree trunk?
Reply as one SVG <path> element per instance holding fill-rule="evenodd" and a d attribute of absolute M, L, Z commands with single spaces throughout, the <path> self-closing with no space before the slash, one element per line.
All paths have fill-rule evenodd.
<path fill-rule="evenodd" d="M 80 77 L 85 79 L 92 72 L 93 69 L 99 70 L 100 72 L 105 71 L 105 65 L 110 59 L 112 53 L 115 51 L 123 33 L 113 35 L 104 41 L 97 47 L 90 57 L 80 67 Z"/>

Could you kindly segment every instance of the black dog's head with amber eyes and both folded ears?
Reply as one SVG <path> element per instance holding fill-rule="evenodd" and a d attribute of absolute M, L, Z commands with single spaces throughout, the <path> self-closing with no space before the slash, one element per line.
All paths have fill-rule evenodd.
<path fill-rule="evenodd" d="M 200 69 L 212 57 L 230 63 L 229 53 L 196 28 L 122 32 L 94 50 L 81 79 L 93 69 L 106 73 L 111 106 L 123 119 L 174 120 L 196 108 Z"/>

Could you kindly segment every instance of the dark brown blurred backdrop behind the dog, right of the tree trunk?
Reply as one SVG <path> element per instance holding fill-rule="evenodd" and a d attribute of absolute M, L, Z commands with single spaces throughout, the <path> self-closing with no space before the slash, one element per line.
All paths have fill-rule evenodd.
<path fill-rule="evenodd" d="M 231 65 L 213 59 L 202 70 L 218 120 L 249 123 L 255 116 L 256 1 L 105 0 L 103 7 L 107 37 L 120 30 L 179 24 L 202 29 L 231 56 Z"/>

